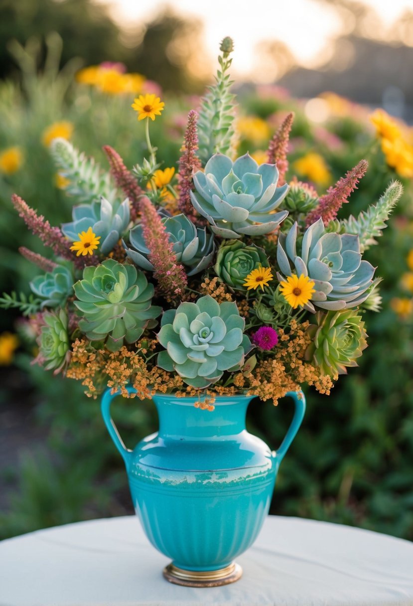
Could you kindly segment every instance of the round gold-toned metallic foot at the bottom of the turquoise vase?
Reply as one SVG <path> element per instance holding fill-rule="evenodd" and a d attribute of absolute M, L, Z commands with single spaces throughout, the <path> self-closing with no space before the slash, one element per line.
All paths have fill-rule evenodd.
<path fill-rule="evenodd" d="M 219 570 L 183 570 L 172 563 L 164 568 L 164 577 L 175 585 L 185 587 L 219 587 L 238 581 L 242 577 L 242 568 L 233 562 Z"/>

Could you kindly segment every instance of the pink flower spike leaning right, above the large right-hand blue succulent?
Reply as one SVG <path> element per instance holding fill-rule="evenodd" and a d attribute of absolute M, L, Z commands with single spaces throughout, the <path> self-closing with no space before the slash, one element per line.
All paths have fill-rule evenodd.
<path fill-rule="evenodd" d="M 357 166 L 349 170 L 345 177 L 339 179 L 334 187 L 328 188 L 327 193 L 319 199 L 317 207 L 307 216 L 307 227 L 318 221 L 320 217 L 323 219 L 324 225 L 328 225 L 336 218 L 342 205 L 348 202 L 351 192 L 357 189 L 357 183 L 365 175 L 368 165 L 367 160 L 360 160 Z"/>

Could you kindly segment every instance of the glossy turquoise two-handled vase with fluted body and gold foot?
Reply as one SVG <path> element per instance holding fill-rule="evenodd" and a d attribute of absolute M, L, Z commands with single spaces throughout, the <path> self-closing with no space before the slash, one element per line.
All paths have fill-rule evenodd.
<path fill-rule="evenodd" d="M 165 578 L 192 587 L 236 581 L 242 570 L 234 558 L 253 544 L 268 514 L 280 462 L 303 420 L 303 393 L 288 393 L 294 418 L 277 451 L 246 431 L 251 396 L 216 398 L 210 411 L 197 408 L 197 398 L 160 394 L 153 397 L 159 431 L 129 450 L 110 416 L 116 395 L 105 392 L 102 415 L 145 533 L 172 560 Z"/>

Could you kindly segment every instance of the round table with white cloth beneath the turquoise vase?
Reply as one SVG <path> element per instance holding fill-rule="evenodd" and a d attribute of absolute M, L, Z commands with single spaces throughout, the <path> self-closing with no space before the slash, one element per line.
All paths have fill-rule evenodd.
<path fill-rule="evenodd" d="M 0 606 L 413 604 L 413 544 L 385 534 L 269 516 L 236 561 L 234 584 L 179 587 L 137 518 L 68 524 L 0 543 Z"/>

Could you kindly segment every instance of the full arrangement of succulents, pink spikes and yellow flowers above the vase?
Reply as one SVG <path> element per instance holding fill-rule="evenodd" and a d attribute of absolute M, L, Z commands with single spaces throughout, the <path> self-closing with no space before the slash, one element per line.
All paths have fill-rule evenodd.
<path fill-rule="evenodd" d="M 65 139 L 51 153 L 72 220 L 52 227 L 18 195 L 28 228 L 55 259 L 21 248 L 42 273 L 31 295 L 4 295 L 38 340 L 36 362 L 78 379 L 87 395 L 106 387 L 139 398 L 242 392 L 271 399 L 314 385 L 329 394 L 367 346 L 365 313 L 380 311 L 380 278 L 363 258 L 402 193 L 392 182 L 357 217 L 337 218 L 368 163 L 326 193 L 292 178 L 289 113 L 263 163 L 237 157 L 237 112 L 220 45 L 216 82 L 188 115 L 175 167 L 157 161 L 150 125 L 165 103 L 139 95 L 147 157 L 128 170 L 110 146 L 104 171 Z M 133 394 L 134 395 L 134 394 Z"/>

